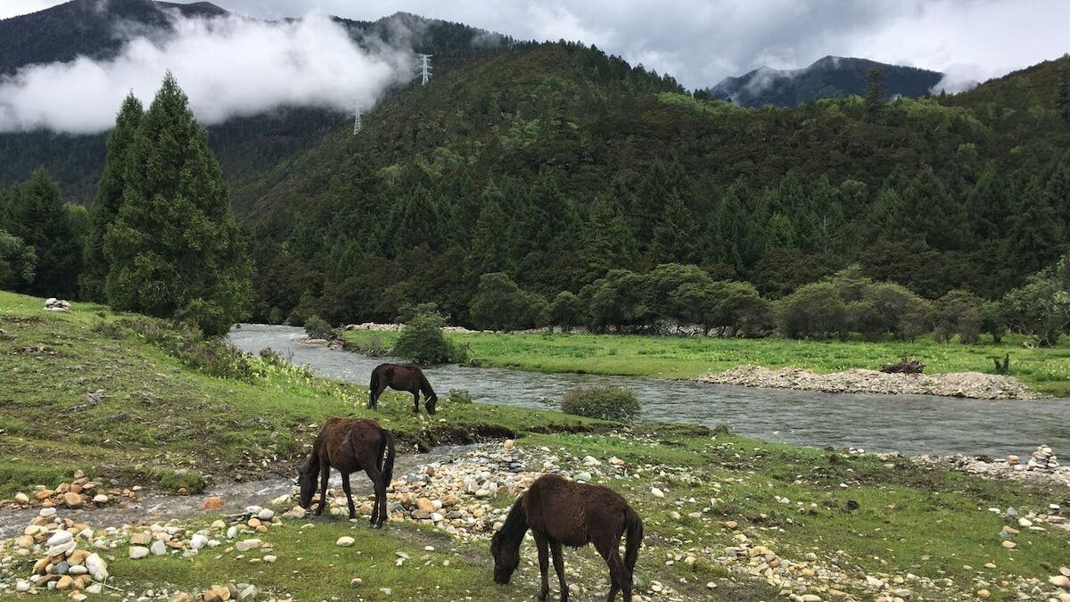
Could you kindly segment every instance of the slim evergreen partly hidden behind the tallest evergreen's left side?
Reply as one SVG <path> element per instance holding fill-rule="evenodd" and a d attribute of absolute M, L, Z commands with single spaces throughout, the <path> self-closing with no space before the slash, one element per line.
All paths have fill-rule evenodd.
<path fill-rule="evenodd" d="M 104 300 L 104 282 L 108 275 L 108 264 L 104 257 L 104 235 L 123 201 L 128 151 L 137 136 L 142 112 L 141 101 L 131 92 L 119 109 L 114 130 L 108 134 L 107 159 L 96 187 L 96 196 L 89 210 L 82 271 L 78 279 L 82 297 L 93 301 Z"/>

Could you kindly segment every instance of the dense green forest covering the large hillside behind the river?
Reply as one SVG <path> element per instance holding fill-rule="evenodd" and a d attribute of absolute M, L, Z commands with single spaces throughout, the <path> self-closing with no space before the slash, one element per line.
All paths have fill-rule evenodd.
<path fill-rule="evenodd" d="M 408 90 L 239 195 L 257 319 L 459 323 L 480 276 L 552 300 L 699 266 L 767 299 L 856 265 L 936 300 L 1000 298 L 1065 251 L 1067 59 L 957 96 L 747 109 L 547 44 Z M 1063 93 L 1065 95 L 1065 92 Z"/>

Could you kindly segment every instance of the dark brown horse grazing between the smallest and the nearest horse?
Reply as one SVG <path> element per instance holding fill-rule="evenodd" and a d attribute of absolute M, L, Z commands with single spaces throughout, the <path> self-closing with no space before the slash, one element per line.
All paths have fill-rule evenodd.
<path fill-rule="evenodd" d="M 317 514 L 323 514 L 327 505 L 327 481 L 331 467 L 341 472 L 341 488 L 349 499 L 349 517 L 356 517 L 353 493 L 349 487 L 351 472 L 364 470 L 376 487 L 376 503 L 371 510 L 371 526 L 379 527 L 386 522 L 386 487 L 394 477 L 394 436 L 374 420 L 364 418 L 327 419 L 326 424 L 312 443 L 305 466 L 297 469 L 301 483 L 301 507 L 305 510 L 312 503 L 316 492 L 316 476 L 320 477 L 320 506 Z"/>

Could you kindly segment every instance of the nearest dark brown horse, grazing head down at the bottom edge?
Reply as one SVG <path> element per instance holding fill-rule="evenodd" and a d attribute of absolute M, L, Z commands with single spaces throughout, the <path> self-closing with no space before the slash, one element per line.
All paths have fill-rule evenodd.
<path fill-rule="evenodd" d="M 553 553 L 553 569 L 561 585 L 561 600 L 568 600 L 565 583 L 565 561 L 561 546 L 579 547 L 588 543 L 606 559 L 610 583 L 607 602 L 624 592 L 625 602 L 631 602 L 631 576 L 643 541 L 643 521 L 628 506 L 621 494 L 601 485 L 587 485 L 568 481 L 557 475 L 545 475 L 532 483 L 509 510 L 509 515 L 490 540 L 494 557 L 494 582 L 509 583 L 520 565 L 520 542 L 528 529 L 532 530 L 538 547 L 538 568 L 542 586 L 538 599 L 550 595 L 548 556 Z M 624 560 L 621 560 L 621 536 L 627 533 Z"/>

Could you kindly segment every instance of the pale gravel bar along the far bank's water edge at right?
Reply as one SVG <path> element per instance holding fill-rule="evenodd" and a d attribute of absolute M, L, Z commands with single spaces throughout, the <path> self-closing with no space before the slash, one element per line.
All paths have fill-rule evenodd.
<path fill-rule="evenodd" d="M 799 367 L 771 370 L 742 365 L 699 378 L 700 382 L 768 389 L 796 389 L 825 393 L 886 395 L 943 395 L 976 400 L 1030 400 L 1022 381 L 1010 376 L 963 372 L 956 374 L 886 374 L 854 368 L 817 374 Z"/>

